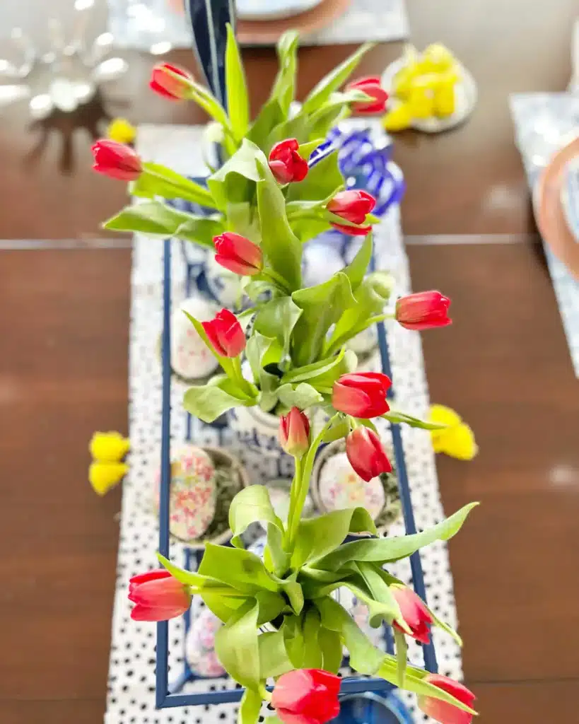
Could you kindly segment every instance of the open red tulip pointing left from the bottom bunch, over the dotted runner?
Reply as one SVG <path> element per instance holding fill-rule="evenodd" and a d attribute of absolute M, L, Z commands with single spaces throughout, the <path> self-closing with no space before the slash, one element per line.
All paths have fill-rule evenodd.
<path fill-rule="evenodd" d="M 189 587 L 160 568 L 135 576 L 129 582 L 129 600 L 135 621 L 166 621 L 182 615 L 191 605 Z"/>

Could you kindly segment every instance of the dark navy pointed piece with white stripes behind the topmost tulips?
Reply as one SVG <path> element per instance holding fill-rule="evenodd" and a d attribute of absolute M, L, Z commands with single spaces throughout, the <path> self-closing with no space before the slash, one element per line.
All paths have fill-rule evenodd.
<path fill-rule="evenodd" d="M 233 0 L 185 0 L 193 30 L 193 52 L 211 92 L 225 106 L 227 24 L 234 25 Z"/>

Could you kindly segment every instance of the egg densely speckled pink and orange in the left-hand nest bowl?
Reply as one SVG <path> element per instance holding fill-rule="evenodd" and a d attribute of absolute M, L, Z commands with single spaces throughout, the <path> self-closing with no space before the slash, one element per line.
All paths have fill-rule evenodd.
<path fill-rule="evenodd" d="M 161 471 L 157 471 L 156 510 L 159 513 Z M 182 445 L 171 450 L 169 531 L 179 540 L 200 538 L 214 519 L 217 485 L 213 460 L 200 447 Z"/>

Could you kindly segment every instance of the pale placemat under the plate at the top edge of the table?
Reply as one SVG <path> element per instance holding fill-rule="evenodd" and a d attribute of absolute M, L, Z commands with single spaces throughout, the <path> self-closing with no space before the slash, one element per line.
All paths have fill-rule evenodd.
<path fill-rule="evenodd" d="M 109 30 L 124 48 L 149 51 L 152 46 L 190 48 L 185 17 L 170 12 L 166 0 L 109 0 Z M 336 22 L 313 35 L 304 35 L 302 45 L 334 45 L 364 41 L 398 41 L 408 37 L 404 0 L 352 0 Z M 268 44 L 268 43 L 266 43 Z"/>

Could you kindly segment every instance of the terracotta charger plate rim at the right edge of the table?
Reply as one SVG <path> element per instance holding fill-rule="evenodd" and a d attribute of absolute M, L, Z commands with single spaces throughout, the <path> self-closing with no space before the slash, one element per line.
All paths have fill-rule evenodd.
<path fill-rule="evenodd" d="M 537 227 L 551 251 L 579 280 L 579 244 L 565 219 L 561 194 L 567 164 L 579 156 L 579 138 L 553 156 L 544 169 L 533 194 Z"/>

